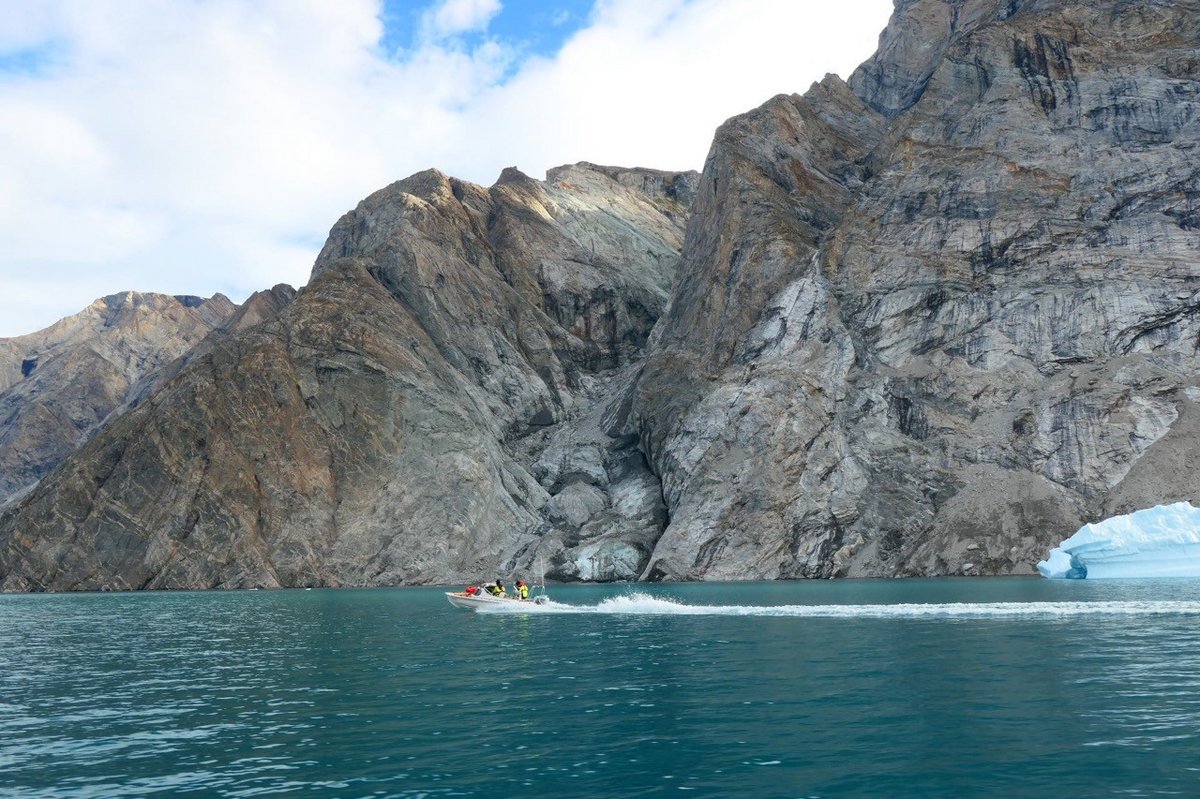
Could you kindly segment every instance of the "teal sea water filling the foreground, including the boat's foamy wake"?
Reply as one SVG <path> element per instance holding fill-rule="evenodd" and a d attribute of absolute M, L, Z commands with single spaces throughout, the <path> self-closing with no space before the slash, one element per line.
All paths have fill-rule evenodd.
<path fill-rule="evenodd" d="M 0 596 L 0 795 L 1200 795 L 1198 581 L 551 594 Z"/>

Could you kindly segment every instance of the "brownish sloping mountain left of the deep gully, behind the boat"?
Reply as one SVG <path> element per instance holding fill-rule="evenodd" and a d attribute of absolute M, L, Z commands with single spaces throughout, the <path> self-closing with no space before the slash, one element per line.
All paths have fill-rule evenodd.
<path fill-rule="evenodd" d="M 427 172 L 368 197 L 277 317 L 193 353 L 0 517 L 2 587 L 440 582 L 653 540 L 634 438 L 539 458 L 619 397 L 697 179 Z"/>

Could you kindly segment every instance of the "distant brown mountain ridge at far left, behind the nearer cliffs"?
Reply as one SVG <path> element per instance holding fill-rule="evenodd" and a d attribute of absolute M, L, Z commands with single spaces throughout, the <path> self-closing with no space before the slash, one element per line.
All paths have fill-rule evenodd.
<path fill-rule="evenodd" d="M 0 505 L 91 438 L 140 380 L 235 311 L 220 294 L 126 292 L 46 330 L 0 338 Z"/>

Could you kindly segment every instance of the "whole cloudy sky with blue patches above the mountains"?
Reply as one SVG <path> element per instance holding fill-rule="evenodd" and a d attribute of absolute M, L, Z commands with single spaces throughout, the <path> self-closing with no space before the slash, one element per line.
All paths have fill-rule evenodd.
<path fill-rule="evenodd" d="M 437 167 L 698 169 L 725 119 L 875 48 L 889 0 L 17 0 L 0 14 L 0 337 L 128 289 L 301 286 Z"/>

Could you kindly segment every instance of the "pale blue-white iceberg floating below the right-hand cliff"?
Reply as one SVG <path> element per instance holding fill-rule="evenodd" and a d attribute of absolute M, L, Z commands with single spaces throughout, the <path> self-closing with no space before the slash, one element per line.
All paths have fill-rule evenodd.
<path fill-rule="evenodd" d="M 1043 577 L 1200 577 L 1200 509 L 1158 505 L 1085 524 L 1038 563 Z"/>

